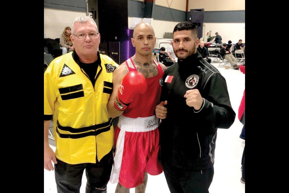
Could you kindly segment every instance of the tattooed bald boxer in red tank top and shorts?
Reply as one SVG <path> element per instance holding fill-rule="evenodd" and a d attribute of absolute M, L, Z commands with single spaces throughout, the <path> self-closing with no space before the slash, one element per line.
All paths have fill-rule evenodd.
<path fill-rule="evenodd" d="M 150 24 L 135 26 L 132 45 L 136 53 L 113 72 L 113 92 L 107 104 L 110 117 L 119 117 L 115 130 L 111 183 L 115 192 L 144 192 L 148 174 L 163 172 L 159 152 L 159 122 L 154 109 L 160 102 L 165 65 L 152 59 L 156 43 Z"/>

